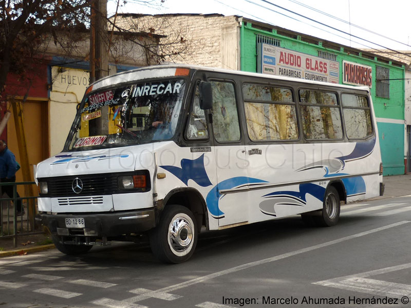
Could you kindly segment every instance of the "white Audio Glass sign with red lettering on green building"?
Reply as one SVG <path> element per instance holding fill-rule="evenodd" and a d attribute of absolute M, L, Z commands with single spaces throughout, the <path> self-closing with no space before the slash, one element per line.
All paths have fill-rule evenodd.
<path fill-rule="evenodd" d="M 257 71 L 279 76 L 339 83 L 340 63 L 259 43 Z"/>

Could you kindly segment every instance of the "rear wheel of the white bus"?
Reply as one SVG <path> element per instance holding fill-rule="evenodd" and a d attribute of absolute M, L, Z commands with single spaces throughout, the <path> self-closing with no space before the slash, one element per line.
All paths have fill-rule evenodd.
<path fill-rule="evenodd" d="M 328 187 L 325 192 L 321 215 L 313 216 L 316 225 L 320 227 L 336 225 L 340 219 L 340 205 L 341 200 L 337 189 L 333 186 Z"/>

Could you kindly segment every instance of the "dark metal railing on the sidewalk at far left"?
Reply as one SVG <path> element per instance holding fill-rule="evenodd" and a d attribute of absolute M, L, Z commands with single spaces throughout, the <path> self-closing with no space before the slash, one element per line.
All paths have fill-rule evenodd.
<path fill-rule="evenodd" d="M 0 188 L 5 185 L 13 185 L 12 198 L 0 198 L 0 238 L 13 238 L 14 247 L 17 247 L 19 236 L 43 233 L 36 226 L 35 213 L 38 196 L 17 198 L 17 185 L 33 185 L 35 182 L 0 183 Z M 5 195 L 7 196 L 7 195 Z M 0 197 L 3 197 L 3 192 Z M 17 200 L 22 201 L 21 213 L 17 215 Z"/>

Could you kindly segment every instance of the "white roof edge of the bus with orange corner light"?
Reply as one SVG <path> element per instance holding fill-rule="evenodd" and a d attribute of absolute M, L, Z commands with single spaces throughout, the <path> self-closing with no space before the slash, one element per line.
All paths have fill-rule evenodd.
<path fill-rule="evenodd" d="M 96 81 L 95 83 L 90 85 L 90 87 L 87 89 L 86 92 L 88 93 L 92 90 L 97 90 L 99 88 L 103 88 L 106 86 L 131 82 L 134 80 L 152 79 L 152 78 L 167 78 L 167 77 L 172 77 L 172 76 L 183 76 L 183 75 L 186 76 L 186 75 L 189 75 L 189 70 L 229 73 L 229 74 L 236 74 L 236 75 L 241 75 L 241 76 L 252 76 L 252 77 L 266 78 L 266 79 L 272 79 L 272 80 L 283 80 L 283 81 L 292 81 L 292 82 L 298 82 L 298 83 L 333 86 L 333 87 L 346 88 L 346 89 L 365 90 L 369 92 L 369 87 L 367 86 L 350 86 L 350 85 L 342 85 L 342 84 L 333 84 L 333 83 L 328 83 L 328 82 L 312 81 L 312 80 L 291 78 L 291 77 L 286 77 L 286 76 L 277 76 L 277 75 L 271 75 L 271 74 L 253 73 L 253 72 L 246 72 L 246 71 L 237 71 L 237 70 L 229 70 L 229 69 L 216 68 L 216 67 L 196 66 L 196 65 L 187 65 L 187 64 L 164 64 L 164 65 L 156 65 L 156 66 L 147 66 L 147 67 L 142 67 L 142 68 L 137 68 L 137 69 L 133 69 L 129 71 L 120 72 L 120 73 L 110 75 L 110 76 L 107 76 L 103 79 Z"/>

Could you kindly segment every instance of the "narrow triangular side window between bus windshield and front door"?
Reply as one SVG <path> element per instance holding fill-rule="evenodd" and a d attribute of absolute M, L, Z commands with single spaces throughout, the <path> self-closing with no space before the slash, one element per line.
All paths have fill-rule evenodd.
<path fill-rule="evenodd" d="M 194 95 L 193 107 L 190 113 L 190 120 L 185 138 L 188 140 L 208 139 L 209 131 L 207 129 L 206 113 L 200 108 L 200 93 L 198 85 Z"/>

